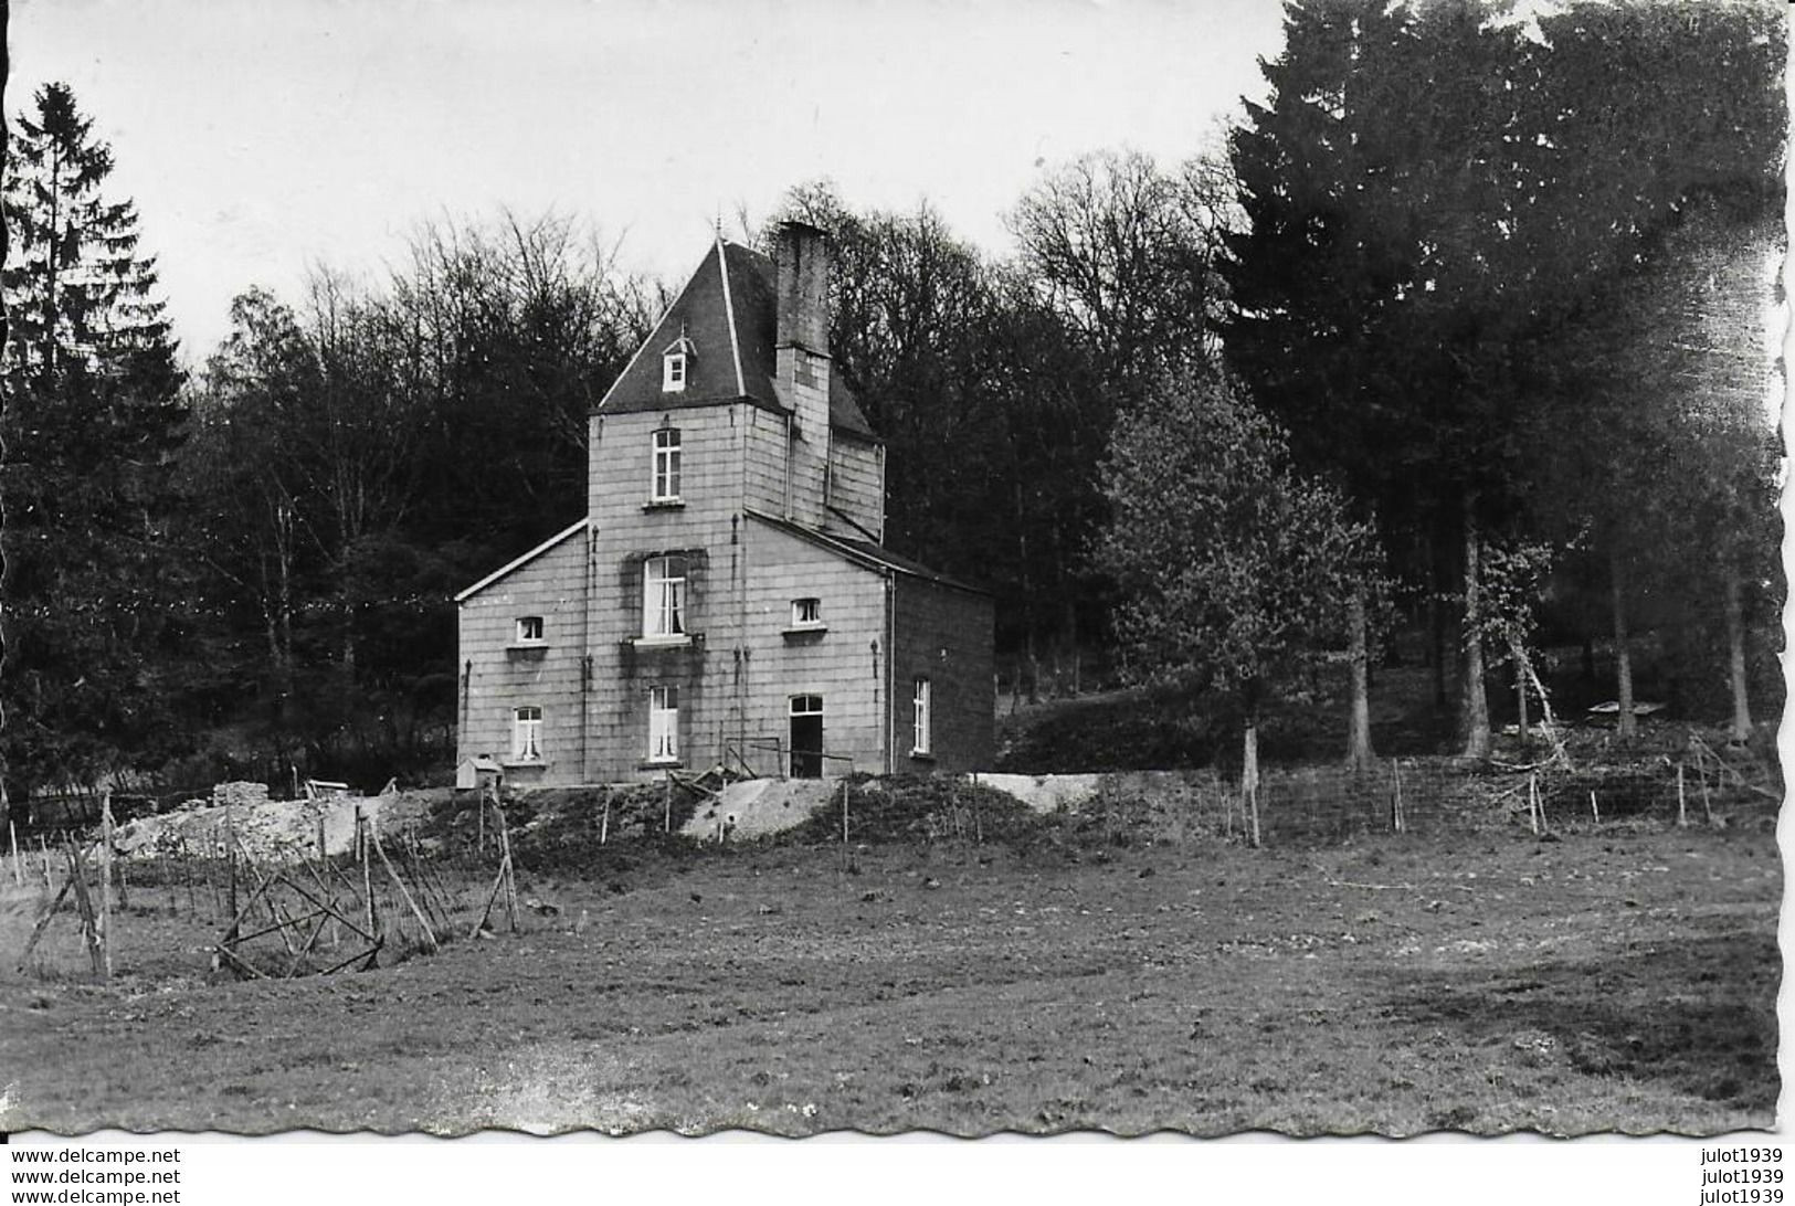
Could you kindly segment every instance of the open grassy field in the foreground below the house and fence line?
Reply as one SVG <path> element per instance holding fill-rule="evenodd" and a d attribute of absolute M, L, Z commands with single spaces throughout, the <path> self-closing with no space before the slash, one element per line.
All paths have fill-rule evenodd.
<path fill-rule="evenodd" d="M 0 1127 L 1768 1127 L 1781 892 L 1764 822 L 738 847 L 526 878 L 560 913 L 521 935 L 235 982 L 140 890 L 113 987 L 5 967 Z"/>

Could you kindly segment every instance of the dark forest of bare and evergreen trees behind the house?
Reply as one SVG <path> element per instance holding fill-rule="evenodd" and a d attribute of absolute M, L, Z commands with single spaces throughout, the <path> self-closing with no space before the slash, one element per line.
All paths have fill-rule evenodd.
<path fill-rule="evenodd" d="M 1563 644 L 1612 650 L 1623 736 L 1639 648 L 1745 738 L 1784 57 L 1770 4 L 1303 0 L 1264 104 L 1183 163 L 1046 167 L 1003 255 L 827 181 L 738 237 L 831 232 L 887 540 L 993 587 L 1020 695 L 1154 684 L 1251 759 L 1265 700 L 1362 700 L 1404 630 L 1472 754 Z M 48 86 L 7 127 L 5 795 L 443 773 L 449 599 L 582 511 L 679 282 L 574 217 L 425 224 L 379 278 L 244 282 L 183 363 L 95 120 Z"/>

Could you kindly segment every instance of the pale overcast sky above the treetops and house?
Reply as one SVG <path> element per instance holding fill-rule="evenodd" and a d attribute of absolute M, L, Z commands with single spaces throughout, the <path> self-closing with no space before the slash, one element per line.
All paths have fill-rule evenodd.
<path fill-rule="evenodd" d="M 1178 162 L 1262 95 L 1271 0 L 14 0 L 16 115 L 66 81 L 117 156 L 183 354 L 251 284 L 379 275 L 443 214 L 546 208 L 682 276 L 827 176 L 1002 251 L 1039 172 Z"/>

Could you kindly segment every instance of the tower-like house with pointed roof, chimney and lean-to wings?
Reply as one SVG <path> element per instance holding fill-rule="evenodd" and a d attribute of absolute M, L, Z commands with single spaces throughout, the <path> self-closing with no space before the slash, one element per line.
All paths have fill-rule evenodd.
<path fill-rule="evenodd" d="M 827 244 L 718 239 L 589 418 L 587 513 L 456 596 L 458 759 L 510 782 L 989 766 L 993 601 L 881 547 Z"/>

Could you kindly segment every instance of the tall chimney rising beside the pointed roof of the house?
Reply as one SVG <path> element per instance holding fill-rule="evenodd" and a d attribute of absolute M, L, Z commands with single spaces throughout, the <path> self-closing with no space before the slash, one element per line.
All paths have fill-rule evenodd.
<path fill-rule="evenodd" d="M 790 519 L 820 526 L 829 506 L 829 242 L 815 226 L 781 223 L 774 248 L 779 398 L 797 416 Z"/>

